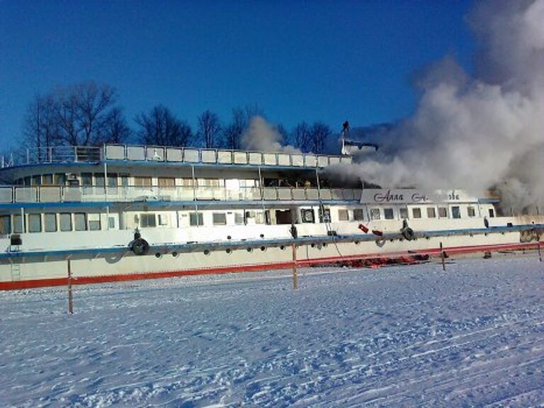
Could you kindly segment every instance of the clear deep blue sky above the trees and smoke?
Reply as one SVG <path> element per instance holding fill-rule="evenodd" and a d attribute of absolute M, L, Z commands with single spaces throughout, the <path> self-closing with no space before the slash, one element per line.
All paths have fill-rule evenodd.
<path fill-rule="evenodd" d="M 0 142 L 35 94 L 89 80 L 117 89 L 131 125 L 158 103 L 191 125 L 246 104 L 287 128 L 396 120 L 417 69 L 447 54 L 470 69 L 471 4 L 0 0 Z"/>

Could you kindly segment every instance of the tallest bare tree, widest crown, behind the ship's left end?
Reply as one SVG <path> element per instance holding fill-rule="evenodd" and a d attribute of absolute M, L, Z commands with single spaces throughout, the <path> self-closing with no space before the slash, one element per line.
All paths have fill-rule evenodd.
<path fill-rule="evenodd" d="M 60 136 L 69 145 L 98 145 L 114 108 L 115 90 L 94 82 L 57 89 L 57 122 Z"/>

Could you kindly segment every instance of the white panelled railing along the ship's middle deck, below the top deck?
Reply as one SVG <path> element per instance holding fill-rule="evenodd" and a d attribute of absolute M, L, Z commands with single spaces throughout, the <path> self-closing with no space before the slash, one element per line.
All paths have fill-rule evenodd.
<path fill-rule="evenodd" d="M 360 200 L 351 188 L 217 186 L 1 186 L 0 203 Z"/>

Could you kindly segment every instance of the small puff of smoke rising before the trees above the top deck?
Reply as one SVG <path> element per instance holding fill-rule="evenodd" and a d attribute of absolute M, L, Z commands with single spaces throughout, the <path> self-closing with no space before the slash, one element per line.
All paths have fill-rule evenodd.
<path fill-rule="evenodd" d="M 278 128 L 268 123 L 261 116 L 253 116 L 242 133 L 242 147 L 246 150 L 300 153 L 300 150 L 296 147 L 284 146 L 281 144 L 282 142 L 283 136 L 278 132 Z"/>

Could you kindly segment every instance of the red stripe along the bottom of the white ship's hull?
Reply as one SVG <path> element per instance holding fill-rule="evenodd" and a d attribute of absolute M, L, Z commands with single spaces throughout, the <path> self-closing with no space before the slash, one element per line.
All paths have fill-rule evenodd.
<path fill-rule="evenodd" d="M 537 249 L 538 242 L 524 244 L 495 244 L 495 245 L 477 245 L 477 246 L 451 246 L 445 247 L 443 250 L 447 254 L 474 254 L 485 251 L 508 251 L 521 249 Z M 348 256 L 329 256 L 316 259 L 301 259 L 297 261 L 298 266 L 312 266 L 321 263 L 331 263 L 339 261 L 353 261 L 357 259 L 380 259 L 380 258 L 396 258 L 400 256 L 413 255 L 438 255 L 440 249 L 416 249 L 413 251 L 395 251 L 382 252 L 374 254 L 356 254 Z M 72 285 L 86 285 L 89 283 L 108 283 L 108 282 L 124 282 L 129 280 L 144 280 L 158 278 L 174 278 L 177 276 L 195 276 L 195 275 L 218 275 L 222 273 L 238 273 L 238 272 L 253 272 L 263 271 L 266 269 L 286 269 L 291 268 L 293 262 L 276 262 L 276 263 L 258 263 L 253 265 L 237 265 L 237 266 L 222 266 L 217 268 L 202 268 L 188 269 L 186 271 L 164 271 L 164 272 L 142 272 L 142 273 L 125 273 L 123 275 L 104 275 L 104 276 L 80 276 L 72 279 Z M 54 279 L 33 279 L 33 280 L 16 280 L 11 282 L 0 282 L 0 290 L 18 290 L 43 288 L 47 286 L 63 286 L 68 285 L 68 278 Z"/>

